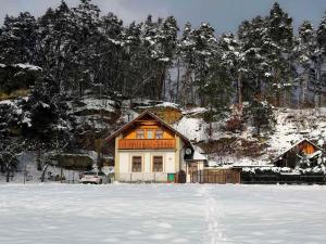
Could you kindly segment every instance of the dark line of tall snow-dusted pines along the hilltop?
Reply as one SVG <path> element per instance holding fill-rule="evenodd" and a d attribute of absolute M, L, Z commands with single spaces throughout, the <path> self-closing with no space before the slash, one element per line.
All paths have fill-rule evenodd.
<path fill-rule="evenodd" d="M 206 106 L 212 116 L 254 100 L 325 105 L 326 16 L 317 28 L 304 21 L 294 35 L 292 18 L 275 3 L 267 16 L 216 37 L 208 23 L 179 29 L 174 16 L 149 15 L 125 26 L 113 13 L 100 13 L 91 0 L 80 0 L 75 8 L 62 1 L 38 18 L 28 12 L 7 16 L 0 30 L 1 90 L 16 89 L 20 80 L 24 87 L 26 75 L 11 87 L 16 73 L 3 68 L 28 63 L 42 68 L 39 79 L 60 97 L 90 90 L 168 100 Z"/>

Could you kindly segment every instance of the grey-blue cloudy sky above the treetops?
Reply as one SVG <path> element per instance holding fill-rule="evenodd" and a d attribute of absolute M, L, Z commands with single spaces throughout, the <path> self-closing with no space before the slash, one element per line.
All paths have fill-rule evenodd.
<path fill-rule="evenodd" d="M 70 7 L 79 0 L 65 0 Z M 40 16 L 49 8 L 55 8 L 61 0 L 0 0 L 0 25 L 5 14 L 17 15 L 29 11 Z M 210 23 L 217 34 L 237 31 L 243 20 L 268 14 L 275 0 L 92 0 L 101 14 L 115 13 L 125 24 L 154 17 L 174 15 L 180 28 L 189 21 L 193 27 L 202 22 Z M 326 11 L 326 0 L 278 0 L 280 7 L 293 18 L 294 29 L 303 20 L 318 26 Z"/>

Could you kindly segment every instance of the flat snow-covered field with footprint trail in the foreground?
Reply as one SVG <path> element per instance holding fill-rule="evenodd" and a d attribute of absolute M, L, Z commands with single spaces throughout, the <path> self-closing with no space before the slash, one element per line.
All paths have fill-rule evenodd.
<path fill-rule="evenodd" d="M 326 188 L 0 184 L 0 243 L 326 243 Z"/>

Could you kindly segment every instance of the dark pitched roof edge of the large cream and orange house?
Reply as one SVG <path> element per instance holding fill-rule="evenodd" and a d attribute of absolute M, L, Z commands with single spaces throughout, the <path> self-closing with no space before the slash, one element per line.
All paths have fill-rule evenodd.
<path fill-rule="evenodd" d="M 111 141 L 113 138 L 115 138 L 116 136 L 118 136 L 121 132 L 123 132 L 124 130 L 130 128 L 130 126 L 133 126 L 137 120 L 139 120 L 139 118 L 145 117 L 146 115 L 151 116 L 153 119 L 158 120 L 162 126 L 166 127 L 168 130 L 173 131 L 174 133 L 176 133 L 178 137 L 180 137 L 186 143 L 188 143 L 191 147 L 191 142 L 190 140 L 185 137 L 184 134 L 181 134 L 179 131 L 177 131 L 176 129 L 174 129 L 172 126 L 170 126 L 167 123 L 165 123 L 162 118 L 160 118 L 159 116 L 154 115 L 153 113 L 151 113 L 150 111 L 146 110 L 145 112 L 142 112 L 141 114 L 139 114 L 135 119 L 133 119 L 131 121 L 129 121 L 128 124 L 124 125 L 123 127 L 121 127 L 118 130 L 114 131 L 110 137 L 108 137 L 105 140 L 106 141 Z"/>

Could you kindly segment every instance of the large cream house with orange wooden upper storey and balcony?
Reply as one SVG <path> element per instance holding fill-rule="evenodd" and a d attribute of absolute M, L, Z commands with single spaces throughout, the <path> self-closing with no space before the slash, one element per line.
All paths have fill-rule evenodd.
<path fill-rule="evenodd" d="M 185 182 L 204 157 L 190 140 L 149 111 L 112 133 L 115 180 L 122 182 Z"/>

